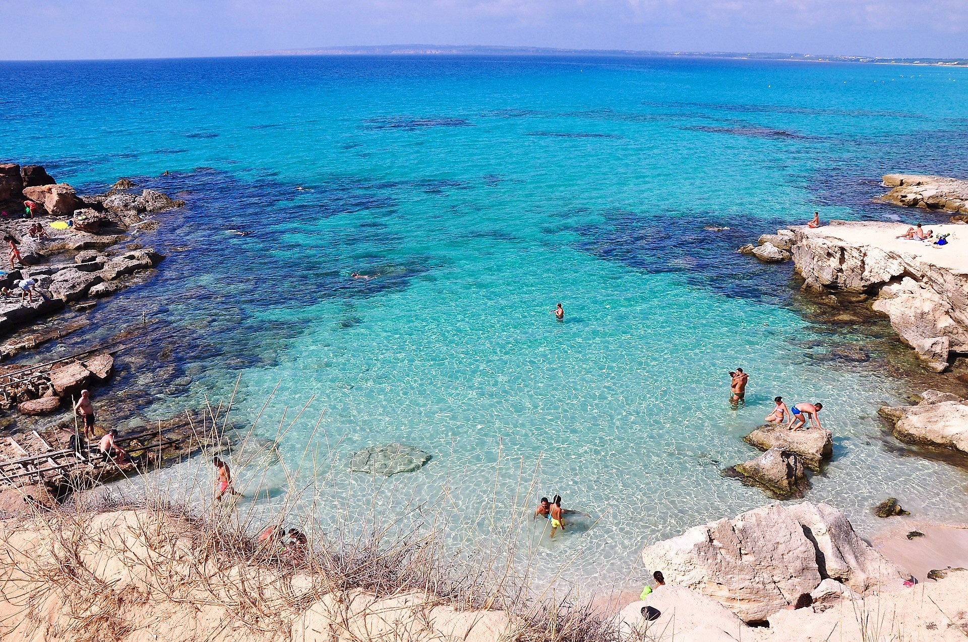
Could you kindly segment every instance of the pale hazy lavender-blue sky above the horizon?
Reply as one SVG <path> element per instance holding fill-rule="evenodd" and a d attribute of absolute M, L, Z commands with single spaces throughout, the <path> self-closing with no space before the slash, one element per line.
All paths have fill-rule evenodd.
<path fill-rule="evenodd" d="M 363 44 L 968 58 L 968 0 L 0 0 L 2 60 Z"/>

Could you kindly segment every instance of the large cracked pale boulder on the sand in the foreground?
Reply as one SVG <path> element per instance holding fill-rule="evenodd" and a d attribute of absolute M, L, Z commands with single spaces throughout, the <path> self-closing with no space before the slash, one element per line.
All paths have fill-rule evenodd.
<path fill-rule="evenodd" d="M 899 589 L 905 579 L 842 512 L 810 502 L 695 526 L 647 546 L 642 561 L 670 585 L 712 598 L 746 623 L 766 621 L 826 580 L 863 593 Z"/>

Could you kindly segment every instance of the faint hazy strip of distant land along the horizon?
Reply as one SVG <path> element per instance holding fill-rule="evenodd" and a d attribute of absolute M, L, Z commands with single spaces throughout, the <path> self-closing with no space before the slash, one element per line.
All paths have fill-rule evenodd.
<path fill-rule="evenodd" d="M 295 49 L 246 51 L 242 56 L 628 56 L 630 58 L 681 57 L 737 60 L 788 60 L 798 62 L 876 63 L 881 65 L 931 65 L 968 67 L 968 58 L 878 58 L 875 56 L 825 56 L 809 53 L 741 53 L 735 51 L 636 51 L 633 49 L 560 49 L 542 46 L 496 46 L 469 44 L 380 44 L 320 46 Z"/>

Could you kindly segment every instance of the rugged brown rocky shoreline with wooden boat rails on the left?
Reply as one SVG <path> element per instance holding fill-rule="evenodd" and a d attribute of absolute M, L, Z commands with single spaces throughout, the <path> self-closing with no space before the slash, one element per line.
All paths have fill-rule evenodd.
<path fill-rule="evenodd" d="M 147 391 L 129 384 L 143 366 L 158 375 L 167 371 L 159 359 L 165 348 L 149 347 L 163 331 L 131 310 L 131 325 L 105 341 L 93 338 L 100 328 L 89 319 L 102 300 L 150 279 L 164 256 L 136 241 L 158 227 L 156 215 L 183 205 L 161 191 L 138 190 L 130 179 L 119 180 L 105 193 L 77 194 L 40 165 L 0 163 L 0 232 L 19 251 L 15 265 L 0 274 L 0 287 L 10 292 L 0 297 L 0 339 L 6 339 L 0 361 L 10 362 L 0 365 L 0 429 L 6 435 L 0 456 L 6 462 L 35 462 L 52 453 L 49 465 L 15 464 L 19 468 L 11 469 L 8 464 L 5 473 L 15 470 L 15 482 L 31 482 L 28 494 L 43 504 L 52 505 L 63 491 L 86 485 L 81 469 L 96 471 L 101 482 L 136 469 L 131 462 L 104 470 L 75 465 L 76 448 L 70 444 L 76 425 L 70 408 L 81 388 L 94 395 L 98 427 L 121 427 L 127 450 L 143 455 L 141 466 L 159 465 L 199 446 L 168 443 L 191 434 L 191 419 L 181 417 L 155 423 L 166 434 L 159 442 L 167 444 L 164 452 L 138 451 L 151 441 L 150 432 L 138 428 L 150 424 L 138 423 L 132 401 Z M 34 282 L 30 297 L 20 295 L 21 279 Z M 68 336 L 81 349 L 65 357 L 61 344 Z M 47 361 L 37 363 L 35 353 Z M 122 383 L 116 381 L 119 373 Z M 156 385 L 165 381 L 162 376 L 154 380 Z M 39 419 L 58 413 L 59 418 Z M 45 472 L 31 473 L 35 469 Z M 0 510 L 21 509 L 22 483 L 20 488 L 4 486 Z"/>

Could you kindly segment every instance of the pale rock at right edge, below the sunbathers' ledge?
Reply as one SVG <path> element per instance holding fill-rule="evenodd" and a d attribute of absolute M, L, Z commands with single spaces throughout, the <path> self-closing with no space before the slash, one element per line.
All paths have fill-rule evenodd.
<path fill-rule="evenodd" d="M 965 401 L 937 391 L 924 391 L 922 398 L 916 406 L 881 406 L 878 412 L 891 423 L 894 437 L 909 444 L 940 446 L 968 454 Z"/>

